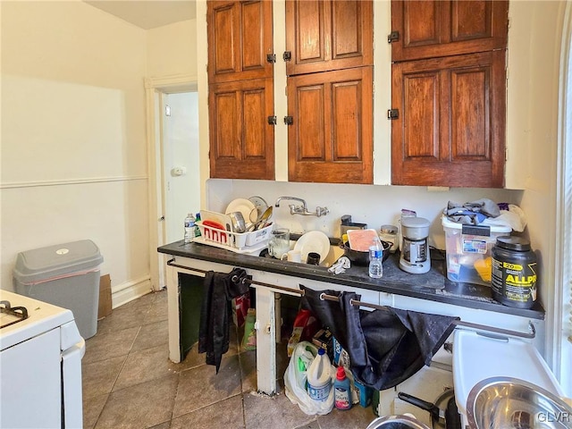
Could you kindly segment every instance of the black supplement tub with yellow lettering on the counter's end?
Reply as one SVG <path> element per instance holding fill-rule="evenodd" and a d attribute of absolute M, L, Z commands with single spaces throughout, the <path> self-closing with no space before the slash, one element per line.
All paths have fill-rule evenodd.
<path fill-rule="evenodd" d="M 492 298 L 509 307 L 533 307 L 536 271 L 536 256 L 527 240 L 499 237 L 492 248 Z"/>

